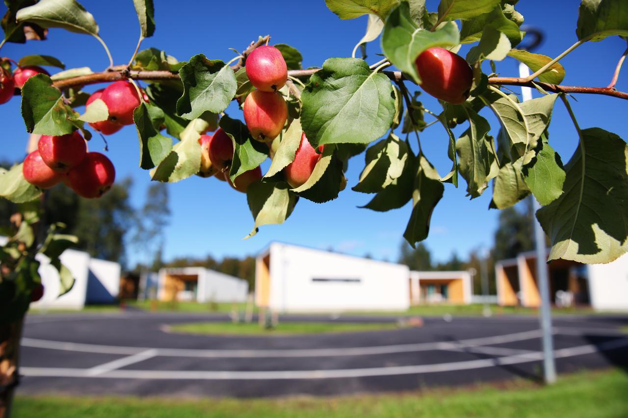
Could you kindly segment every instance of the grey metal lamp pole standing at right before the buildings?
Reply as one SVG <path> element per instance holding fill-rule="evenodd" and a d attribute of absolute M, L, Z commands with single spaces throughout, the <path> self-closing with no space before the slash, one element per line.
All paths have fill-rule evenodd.
<path fill-rule="evenodd" d="M 523 63 L 519 63 L 519 77 L 528 77 L 530 69 Z M 521 87 L 523 100 L 532 99 L 532 88 Z M 533 198 L 534 212 L 541 208 L 538 201 Z M 543 379 L 546 384 L 556 382 L 556 365 L 554 363 L 554 341 L 552 336 L 551 306 L 549 303 L 548 266 L 545 263 L 546 247 L 545 233 L 541 224 L 534 222 L 534 242 L 536 244 L 536 278 L 541 293 L 541 312 L 539 322 L 543 331 Z"/>

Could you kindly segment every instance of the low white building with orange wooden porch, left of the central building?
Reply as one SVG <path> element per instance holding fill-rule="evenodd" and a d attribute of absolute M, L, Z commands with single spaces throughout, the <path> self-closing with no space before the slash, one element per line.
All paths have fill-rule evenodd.
<path fill-rule="evenodd" d="M 246 302 L 246 280 L 204 267 L 161 269 L 157 297 L 161 301 Z"/>

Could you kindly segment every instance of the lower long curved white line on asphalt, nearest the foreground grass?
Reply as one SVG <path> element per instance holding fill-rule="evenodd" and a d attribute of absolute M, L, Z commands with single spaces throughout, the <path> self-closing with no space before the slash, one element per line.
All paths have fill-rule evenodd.
<path fill-rule="evenodd" d="M 555 350 L 555 358 L 566 358 L 595 353 L 600 350 L 612 350 L 628 346 L 628 338 L 609 341 L 595 346 L 592 344 Z M 410 375 L 420 373 L 456 372 L 475 368 L 499 365 L 528 363 L 543 359 L 543 353 L 535 351 L 521 355 L 465 362 L 437 363 L 426 365 L 410 365 L 396 367 L 352 368 L 340 370 L 272 370 L 265 372 L 242 371 L 193 371 L 193 370 L 112 370 L 97 376 L 90 376 L 89 369 L 80 368 L 40 368 L 22 367 L 21 373 L 31 377 L 84 377 L 84 378 L 127 378 L 149 380 L 282 380 L 282 379 L 322 379 Z"/>

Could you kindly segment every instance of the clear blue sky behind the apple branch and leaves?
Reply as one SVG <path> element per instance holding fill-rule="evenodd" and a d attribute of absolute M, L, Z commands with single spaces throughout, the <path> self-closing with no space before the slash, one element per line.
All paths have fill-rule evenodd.
<path fill-rule="evenodd" d="M 131 1 L 112 2 L 83 0 L 100 26 L 100 36 L 106 41 L 117 64 L 126 63 L 133 53 L 139 35 L 137 18 Z M 154 46 L 165 50 L 179 60 L 204 53 L 208 58 L 230 60 L 234 53 L 228 48 L 243 50 L 258 35 L 270 34 L 271 43 L 288 43 L 303 53 L 304 67 L 320 66 L 326 58 L 350 56 L 355 43 L 364 34 L 366 18 L 342 21 L 330 12 L 323 0 L 269 2 L 241 0 L 234 2 L 208 2 L 179 0 L 176 6 L 166 0 L 154 0 L 156 8 L 156 32 L 145 40 L 142 48 Z M 217 6 L 220 4 L 220 6 Z M 438 3 L 428 1 L 434 11 Z M 517 4 L 526 18 L 526 24 L 543 29 L 544 43 L 536 52 L 556 56 L 574 43 L 577 38 L 577 2 L 521 1 Z M 588 43 L 566 56 L 561 63 L 568 85 L 605 86 L 609 83 L 625 42 L 615 36 L 598 43 Z M 467 48 L 460 52 L 465 55 Z M 379 40 L 369 44 L 367 61 L 374 63 L 379 57 Z M 7 44 L 1 52 L 18 60 L 30 54 L 53 55 L 68 68 L 89 66 L 102 70 L 108 65 L 106 55 L 94 38 L 51 29 L 49 40 L 30 42 L 26 45 Z M 488 68 L 485 72 L 490 72 Z M 504 76 L 518 75 L 516 62 L 507 59 L 498 64 L 498 72 Z M 617 88 L 628 90 L 628 70 L 620 75 Z M 93 91 L 104 85 L 94 85 L 85 90 Z M 428 109 L 440 112 L 435 99 L 422 96 Z M 628 137 L 628 115 L 624 101 L 611 97 L 578 95 L 572 102 L 581 127 L 599 126 Z M 227 112 L 232 117 L 242 117 L 232 105 Z M 0 108 L 4 136 L 1 159 L 17 160 L 24 157 L 27 134 L 19 117 L 19 99 L 14 98 Z M 494 127 L 497 122 L 486 110 Z M 430 122 L 430 116 L 426 116 Z M 461 130 L 455 131 L 460 134 Z M 494 134 L 496 133 L 493 132 Z M 148 173 L 138 167 L 138 139 L 133 126 L 108 137 L 109 156 L 116 165 L 117 178 L 131 176 L 134 186 L 131 200 L 134 205 L 143 204 L 149 185 Z M 438 124 L 421 135 L 423 151 L 441 174 L 450 169 L 447 158 L 448 138 Z M 550 128 L 550 143 L 566 163 L 577 146 L 575 129 L 564 107 L 557 102 Z M 90 142 L 92 151 L 102 149 L 102 140 L 95 136 Z M 268 163 L 266 164 L 266 167 Z M 378 259 L 396 260 L 399 244 L 408 222 L 411 207 L 386 213 L 359 209 L 371 195 L 350 190 L 355 185 L 364 156 L 349 163 L 349 186 L 340 197 L 330 203 L 317 205 L 301 199 L 295 212 L 283 225 L 263 227 L 256 237 L 242 240 L 251 230 L 253 220 L 246 196 L 232 190 L 224 182 L 215 179 L 193 177 L 169 186 L 171 223 L 166 228 L 165 259 L 177 256 L 212 254 L 242 256 L 256 254 L 273 240 L 308 245 L 355 255 L 369 253 Z M 458 189 L 446 185 L 445 195 L 436 206 L 432 217 L 430 237 L 426 245 L 436 260 L 445 260 L 452 252 L 465 256 L 469 250 L 491 245 L 497 227 L 499 212 L 488 210 L 492 188 L 480 198 L 469 201 L 465 197 L 463 180 Z M 131 254 L 131 262 L 136 255 Z"/>

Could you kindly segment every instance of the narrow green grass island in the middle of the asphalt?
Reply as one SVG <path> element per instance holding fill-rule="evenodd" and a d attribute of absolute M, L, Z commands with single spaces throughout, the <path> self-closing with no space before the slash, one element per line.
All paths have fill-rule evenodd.
<path fill-rule="evenodd" d="M 192 334 L 218 335 L 288 335 L 288 334 L 320 334 L 349 333 L 359 331 L 396 330 L 397 324 L 363 324 L 363 323 L 324 323 L 324 322 L 282 322 L 272 329 L 266 329 L 256 322 L 197 322 L 175 324 L 168 327 L 170 331 Z"/>

